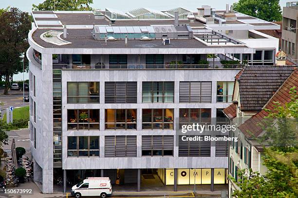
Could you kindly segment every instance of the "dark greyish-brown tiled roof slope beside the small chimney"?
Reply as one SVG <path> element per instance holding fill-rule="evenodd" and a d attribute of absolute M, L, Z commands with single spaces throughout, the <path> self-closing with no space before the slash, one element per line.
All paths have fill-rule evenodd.
<path fill-rule="evenodd" d="M 291 75 L 293 66 L 246 66 L 235 77 L 239 82 L 241 110 L 260 111 Z"/>

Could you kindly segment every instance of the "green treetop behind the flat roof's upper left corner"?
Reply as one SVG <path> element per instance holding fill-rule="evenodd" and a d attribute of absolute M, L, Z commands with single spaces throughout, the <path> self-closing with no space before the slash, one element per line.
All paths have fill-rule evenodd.
<path fill-rule="evenodd" d="M 45 0 L 38 5 L 32 4 L 33 10 L 92 10 L 93 0 Z"/>

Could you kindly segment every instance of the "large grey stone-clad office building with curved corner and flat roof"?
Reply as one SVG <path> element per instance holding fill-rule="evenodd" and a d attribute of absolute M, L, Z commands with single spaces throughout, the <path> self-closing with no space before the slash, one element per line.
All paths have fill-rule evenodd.
<path fill-rule="evenodd" d="M 147 179 L 174 190 L 226 184 L 227 144 L 191 144 L 178 131 L 221 121 L 211 118 L 224 116 L 243 65 L 275 64 L 279 40 L 258 30 L 279 25 L 228 5 L 32 16 L 30 138 L 43 193 L 59 176 L 105 176 L 138 191 Z"/>

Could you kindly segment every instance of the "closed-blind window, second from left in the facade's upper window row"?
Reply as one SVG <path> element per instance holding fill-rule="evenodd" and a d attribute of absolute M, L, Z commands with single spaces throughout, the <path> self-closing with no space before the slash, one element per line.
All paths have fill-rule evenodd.
<path fill-rule="evenodd" d="M 137 103 L 137 82 L 105 82 L 105 103 Z"/>

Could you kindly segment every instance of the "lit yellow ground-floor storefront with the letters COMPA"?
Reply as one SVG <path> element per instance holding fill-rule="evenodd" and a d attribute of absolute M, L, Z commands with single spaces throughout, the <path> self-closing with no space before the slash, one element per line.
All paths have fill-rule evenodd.
<path fill-rule="evenodd" d="M 174 169 L 159 168 L 157 173 L 165 185 L 174 185 Z M 178 169 L 177 184 L 211 184 L 211 168 L 180 168 Z M 214 184 L 227 183 L 227 169 L 214 168 Z"/>

